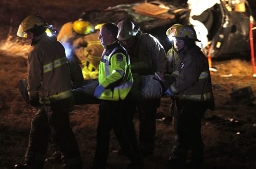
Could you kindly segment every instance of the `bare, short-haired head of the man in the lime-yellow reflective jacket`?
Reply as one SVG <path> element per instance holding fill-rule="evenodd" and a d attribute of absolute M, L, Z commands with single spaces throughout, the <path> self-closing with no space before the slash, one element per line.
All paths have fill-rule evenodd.
<path fill-rule="evenodd" d="M 114 23 L 105 23 L 99 31 L 99 40 L 102 45 L 110 45 L 117 40 L 119 31 Z"/>

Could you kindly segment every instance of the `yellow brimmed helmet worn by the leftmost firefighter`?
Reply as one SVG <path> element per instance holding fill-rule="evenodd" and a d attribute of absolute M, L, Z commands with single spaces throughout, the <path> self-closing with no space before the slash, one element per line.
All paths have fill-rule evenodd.
<path fill-rule="evenodd" d="M 45 27 L 47 29 L 52 27 L 52 25 L 48 25 L 39 15 L 29 15 L 19 25 L 17 36 L 27 38 L 27 32 L 37 27 Z"/>

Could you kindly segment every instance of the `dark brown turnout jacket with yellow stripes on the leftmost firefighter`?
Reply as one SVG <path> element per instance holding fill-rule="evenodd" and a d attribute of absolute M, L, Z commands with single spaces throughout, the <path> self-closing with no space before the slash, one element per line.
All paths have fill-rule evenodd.
<path fill-rule="evenodd" d="M 72 80 L 64 47 L 42 34 L 28 57 L 28 91 L 41 105 L 73 100 Z M 72 101 L 70 101 L 71 107 Z"/>

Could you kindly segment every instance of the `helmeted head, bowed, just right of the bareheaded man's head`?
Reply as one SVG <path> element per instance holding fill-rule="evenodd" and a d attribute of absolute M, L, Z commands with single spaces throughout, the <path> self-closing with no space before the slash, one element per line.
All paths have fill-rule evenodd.
<path fill-rule="evenodd" d="M 119 21 L 117 27 L 120 31 L 118 40 L 124 47 L 132 47 L 136 41 L 135 37 L 139 31 L 139 27 L 135 26 L 134 23 L 130 20 Z"/>

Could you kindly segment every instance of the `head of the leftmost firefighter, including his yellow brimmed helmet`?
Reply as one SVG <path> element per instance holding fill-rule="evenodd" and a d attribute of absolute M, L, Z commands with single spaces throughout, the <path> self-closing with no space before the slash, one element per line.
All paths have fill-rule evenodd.
<path fill-rule="evenodd" d="M 17 36 L 22 38 L 32 38 L 45 33 L 47 28 L 52 27 L 39 15 L 29 15 L 19 25 Z M 32 39 L 31 39 L 32 40 Z"/>

